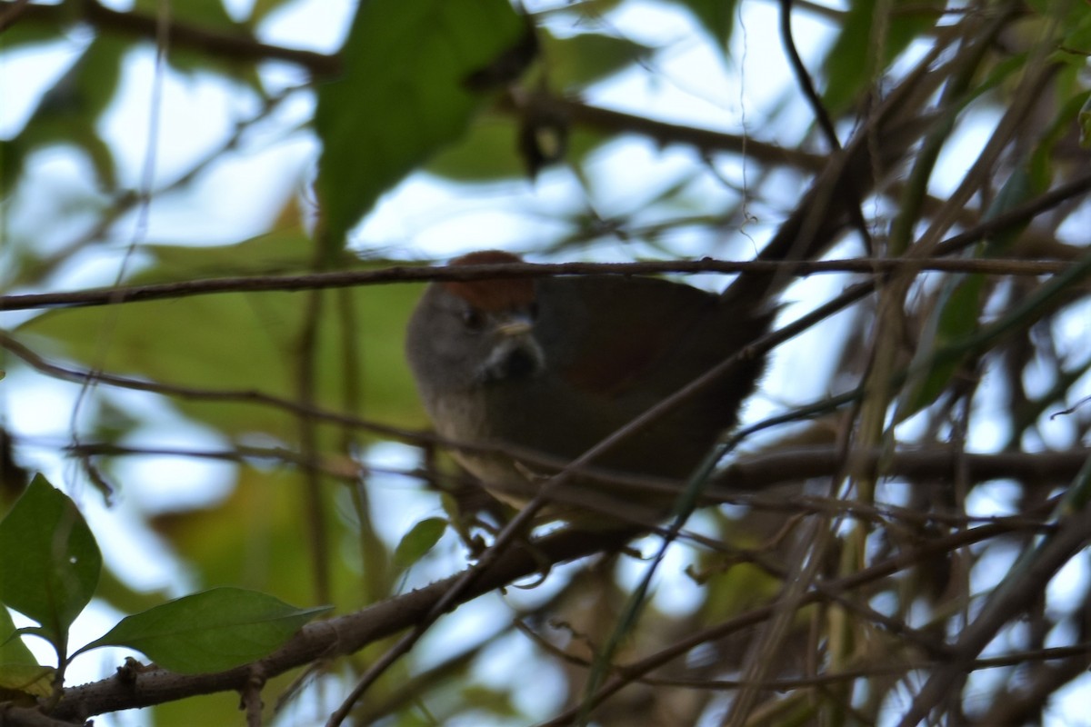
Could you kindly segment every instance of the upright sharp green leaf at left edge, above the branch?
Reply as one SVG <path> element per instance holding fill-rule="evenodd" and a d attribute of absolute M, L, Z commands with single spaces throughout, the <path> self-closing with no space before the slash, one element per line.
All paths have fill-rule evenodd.
<path fill-rule="evenodd" d="M 33 618 L 63 654 L 68 628 L 91 601 L 103 568 L 91 529 L 40 474 L 0 522 L 0 603 Z"/>

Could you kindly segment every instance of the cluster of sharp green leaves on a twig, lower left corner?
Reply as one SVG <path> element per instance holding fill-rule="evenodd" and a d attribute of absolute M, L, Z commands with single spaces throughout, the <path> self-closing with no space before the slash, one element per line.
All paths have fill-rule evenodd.
<path fill-rule="evenodd" d="M 0 546 L 5 558 L 0 604 L 38 623 L 11 631 L 9 621 L 8 638 L 45 639 L 57 654 L 60 674 L 72 658 L 98 646 L 130 646 L 183 674 L 230 669 L 267 656 L 327 610 L 292 608 L 242 589 L 214 589 L 127 616 L 101 638 L 70 653 L 69 629 L 91 602 L 103 566 L 80 511 L 38 475 L 0 521 Z M 16 692 L 38 693 L 40 678 L 23 681 L 27 666 L 34 664 L 25 647 L 13 641 L 2 656 L 0 683 Z M 41 666 L 38 671 L 52 669 Z M 59 686 L 59 676 L 55 680 Z"/>

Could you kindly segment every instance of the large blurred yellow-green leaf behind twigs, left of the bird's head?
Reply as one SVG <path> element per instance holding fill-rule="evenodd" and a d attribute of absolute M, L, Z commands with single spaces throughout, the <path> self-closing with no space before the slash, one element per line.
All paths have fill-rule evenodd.
<path fill-rule="evenodd" d="M 132 282 L 187 279 L 216 270 L 238 275 L 296 268 L 293 250 L 305 238 L 265 235 L 239 245 L 216 247 L 149 247 L 159 260 Z M 293 247 L 298 245 L 298 247 Z M 268 251 L 269 257 L 265 254 Z M 370 263 L 361 268 L 379 267 Z M 220 272 L 223 275 L 223 272 Z M 194 389 L 262 391 L 293 398 L 296 393 L 298 335 L 305 311 L 301 293 L 225 293 L 178 300 L 58 310 L 34 318 L 21 331 L 51 339 L 44 353 L 57 349 L 84 366 Z M 363 413 L 392 424 L 417 425 L 423 414 L 405 364 L 401 341 L 420 286 L 369 286 L 352 291 L 352 331 L 360 350 Z M 108 338 L 104 339 L 104 331 Z M 322 316 L 319 402 L 341 409 L 345 376 L 337 316 Z M 108 343 L 104 346 L 104 343 Z M 295 415 L 265 405 L 238 401 L 176 398 L 185 414 L 208 423 L 230 437 L 263 433 L 295 441 Z"/>

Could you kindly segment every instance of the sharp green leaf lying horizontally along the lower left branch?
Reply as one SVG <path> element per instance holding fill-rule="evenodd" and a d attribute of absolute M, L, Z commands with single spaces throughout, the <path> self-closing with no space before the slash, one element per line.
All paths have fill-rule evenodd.
<path fill-rule="evenodd" d="M 268 656 L 329 609 L 296 608 L 256 591 L 213 589 L 128 616 L 80 651 L 130 646 L 171 671 L 223 671 Z"/>

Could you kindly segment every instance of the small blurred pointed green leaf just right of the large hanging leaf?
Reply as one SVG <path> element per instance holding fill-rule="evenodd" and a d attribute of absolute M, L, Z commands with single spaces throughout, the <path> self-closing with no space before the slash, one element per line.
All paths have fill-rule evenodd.
<path fill-rule="evenodd" d="M 550 85 L 574 93 L 651 54 L 651 48 L 626 38 L 582 33 L 559 38 L 540 31 Z"/>

